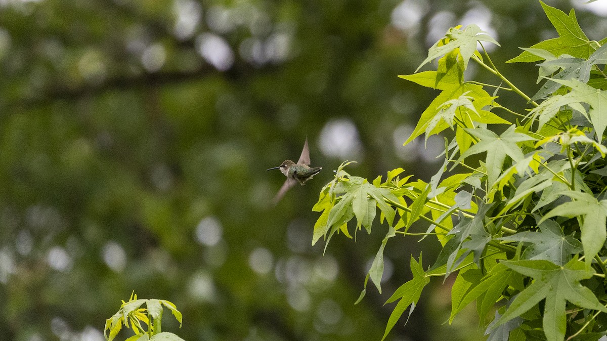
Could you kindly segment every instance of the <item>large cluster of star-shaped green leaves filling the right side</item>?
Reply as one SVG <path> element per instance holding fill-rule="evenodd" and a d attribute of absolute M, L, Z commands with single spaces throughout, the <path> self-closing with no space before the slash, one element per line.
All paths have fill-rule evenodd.
<path fill-rule="evenodd" d="M 482 323 L 492 317 L 489 340 L 607 334 L 607 38 L 590 41 L 573 10 L 567 15 L 541 5 L 559 37 L 509 61 L 542 61 L 538 83 L 544 83 L 534 96 L 495 67 L 483 44 L 496 41 L 476 25 L 452 28 L 422 62 L 438 58 L 435 71 L 400 76 L 440 91 L 405 141 L 452 130 L 438 173 L 426 183 L 398 168 L 385 181 L 367 181 L 345 172 L 343 163 L 320 192 L 313 243 L 324 238 L 328 244 L 336 232 L 351 238 L 354 218 L 354 235 L 362 228 L 371 233 L 377 208 L 379 222 L 388 225 L 365 288 L 371 279 L 381 292 L 388 240 L 432 235 L 441 245 L 427 269 L 421 254 L 411 258 L 413 279 L 387 301 L 398 303 L 384 338 L 407 308 L 413 312 L 430 277 L 451 274 L 449 322 L 476 302 Z M 500 84 L 466 81 L 469 61 Z M 500 103 L 503 91 L 520 95 L 526 112 Z M 429 224 L 427 231 L 412 232 L 416 221 Z"/>

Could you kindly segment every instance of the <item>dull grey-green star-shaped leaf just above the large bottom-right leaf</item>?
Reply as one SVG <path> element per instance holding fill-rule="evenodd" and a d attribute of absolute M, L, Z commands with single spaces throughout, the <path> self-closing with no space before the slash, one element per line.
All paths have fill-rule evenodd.
<path fill-rule="evenodd" d="M 582 243 L 572 235 L 565 236 L 553 220 L 544 220 L 539 232 L 525 231 L 497 239 L 529 243 L 523 253 L 524 259 L 549 260 L 557 265 L 568 262 L 571 254 L 582 252 Z"/>

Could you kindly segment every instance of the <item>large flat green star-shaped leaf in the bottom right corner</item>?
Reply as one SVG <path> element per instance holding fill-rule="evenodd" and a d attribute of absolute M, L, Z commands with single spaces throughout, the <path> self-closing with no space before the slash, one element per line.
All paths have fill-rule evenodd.
<path fill-rule="evenodd" d="M 583 308 L 607 312 L 607 308 L 601 305 L 592 291 L 580 284 L 580 280 L 589 279 L 594 272 L 577 257 L 565 266 L 558 266 L 548 260 L 519 260 L 501 264 L 532 277 L 534 282 L 518 294 L 493 328 L 520 316 L 545 299 L 544 334 L 548 340 L 558 341 L 565 338 L 567 301 Z"/>

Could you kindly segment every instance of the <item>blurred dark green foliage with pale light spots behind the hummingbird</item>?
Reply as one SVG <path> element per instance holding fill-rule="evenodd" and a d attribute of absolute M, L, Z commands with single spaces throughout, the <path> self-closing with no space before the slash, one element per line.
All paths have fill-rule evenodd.
<path fill-rule="evenodd" d="M 604 1 L 547 2 L 607 35 Z M 384 236 L 323 256 L 311 208 L 344 160 L 429 180 L 443 140 L 402 143 L 436 93 L 396 76 L 470 23 L 534 94 L 535 67 L 503 62 L 556 35 L 538 1 L 0 0 L 0 340 L 103 340 L 133 290 L 174 302 L 183 328 L 163 329 L 186 340 L 380 339 L 435 242 L 388 243 L 384 294 L 353 305 Z M 273 207 L 265 169 L 306 137 L 323 170 Z M 483 339 L 432 285 L 388 339 Z"/>

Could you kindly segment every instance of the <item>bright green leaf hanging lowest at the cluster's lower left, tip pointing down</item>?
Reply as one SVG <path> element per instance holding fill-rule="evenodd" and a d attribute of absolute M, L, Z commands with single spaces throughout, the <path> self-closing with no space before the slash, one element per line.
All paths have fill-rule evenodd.
<path fill-rule="evenodd" d="M 405 311 L 405 309 L 409 308 L 409 306 L 411 306 L 409 316 L 411 315 L 413 308 L 415 308 L 415 305 L 419 301 L 419 296 L 421 295 L 422 290 L 428 283 L 430 283 L 430 279 L 426 276 L 421 263 L 421 254 L 419 254 L 419 262 L 415 261 L 413 255 L 411 256 L 410 269 L 413 273 L 413 279 L 396 289 L 392 297 L 387 300 L 386 303 L 390 303 L 400 299 L 392 311 L 392 314 L 390 314 L 390 319 L 388 319 L 388 323 L 385 326 L 385 333 L 382 340 L 388 336 L 388 333 L 390 333 L 394 325 L 396 325 L 396 322 L 398 322 L 398 319 L 400 319 L 402 316 L 402 313 Z"/>

